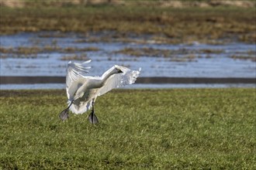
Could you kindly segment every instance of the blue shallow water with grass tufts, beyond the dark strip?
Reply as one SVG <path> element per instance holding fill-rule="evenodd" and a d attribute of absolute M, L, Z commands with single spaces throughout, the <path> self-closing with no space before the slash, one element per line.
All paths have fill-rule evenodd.
<path fill-rule="evenodd" d="M 45 36 L 47 34 L 48 36 Z M 53 34 L 53 37 L 49 36 Z M 37 32 L 19 33 L 12 36 L 0 36 L 1 47 L 22 47 L 36 46 L 61 46 L 61 48 L 76 47 L 97 47 L 99 51 L 74 52 L 76 55 L 84 55 L 86 59 L 92 59 L 90 75 L 102 75 L 114 64 L 128 66 L 131 69 L 142 68 L 140 76 L 182 76 L 182 77 L 255 77 L 255 45 L 234 42 L 222 45 L 207 45 L 194 42 L 192 44 L 164 44 L 154 41 L 144 43 L 122 42 L 110 39 L 108 42 L 90 42 L 92 37 L 100 35 L 84 36 L 77 33 L 66 33 L 62 37 L 56 36 L 58 32 Z M 61 34 L 63 35 L 63 34 Z M 85 42 L 78 42 L 79 40 Z M 133 38 L 136 39 L 136 38 Z M 138 38 L 140 39 L 140 37 Z M 152 48 L 169 49 L 181 51 L 164 56 L 128 56 L 123 53 L 115 53 L 125 48 Z M 213 53 L 202 53 L 202 50 L 210 49 Z M 214 51 L 219 51 L 215 53 Z M 184 53 L 183 53 L 184 52 Z M 192 59 L 183 59 L 191 55 Z M 64 76 L 67 60 L 64 56 L 71 56 L 74 53 L 63 53 L 59 51 L 43 51 L 36 54 L 12 54 L 0 53 L 1 76 Z M 248 56 L 250 59 L 233 59 L 231 56 Z M 5 56 L 5 57 L 3 57 Z M 178 59 L 178 60 L 177 60 Z M 80 61 L 78 61 L 80 62 Z"/>

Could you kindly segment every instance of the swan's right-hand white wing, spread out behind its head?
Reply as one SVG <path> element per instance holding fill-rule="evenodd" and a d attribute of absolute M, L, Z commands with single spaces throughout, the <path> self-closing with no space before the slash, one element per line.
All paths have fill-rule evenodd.
<path fill-rule="evenodd" d="M 101 87 L 98 90 L 98 96 L 101 96 L 104 93 L 107 93 L 109 90 L 112 90 L 114 88 L 123 87 L 127 84 L 135 83 L 137 80 L 137 77 L 140 74 L 140 70 L 130 70 L 124 66 L 112 66 L 111 70 L 119 69 L 123 73 L 117 73 L 113 74 L 112 76 L 109 76 L 109 79 L 106 80 L 103 87 Z M 108 70 L 109 71 L 109 70 Z"/>

